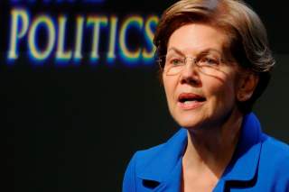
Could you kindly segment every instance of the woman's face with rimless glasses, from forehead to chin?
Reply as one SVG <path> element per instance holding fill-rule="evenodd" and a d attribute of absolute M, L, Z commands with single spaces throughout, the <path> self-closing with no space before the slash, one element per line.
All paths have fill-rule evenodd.
<path fill-rule="evenodd" d="M 218 64 L 214 60 L 224 59 L 226 54 L 223 47 L 227 41 L 226 33 L 201 23 L 186 24 L 172 33 L 165 65 L 168 66 L 168 62 L 178 64 L 178 58 L 190 58 L 186 59 L 186 65 L 176 74 L 173 70 L 163 71 L 163 85 L 170 112 L 182 127 L 197 129 L 220 126 L 234 110 L 238 110 L 238 65 L 224 60 Z M 197 67 L 193 64 L 195 58 L 200 63 L 211 64 L 213 68 Z"/>

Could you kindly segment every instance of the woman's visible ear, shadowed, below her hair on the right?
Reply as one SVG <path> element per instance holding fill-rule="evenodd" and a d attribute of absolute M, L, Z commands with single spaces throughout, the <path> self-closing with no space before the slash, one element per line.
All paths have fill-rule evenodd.
<path fill-rule="evenodd" d="M 247 101 L 251 98 L 258 84 L 259 76 L 253 72 L 241 75 L 238 83 L 237 99 L 239 102 Z"/>

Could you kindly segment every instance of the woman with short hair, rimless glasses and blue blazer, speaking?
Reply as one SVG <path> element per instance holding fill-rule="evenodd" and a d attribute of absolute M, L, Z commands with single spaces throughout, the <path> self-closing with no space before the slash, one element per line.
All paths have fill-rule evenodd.
<path fill-rule="evenodd" d="M 275 60 L 237 0 L 181 0 L 156 29 L 169 110 L 182 129 L 135 153 L 123 191 L 289 191 L 289 148 L 251 113 Z"/>

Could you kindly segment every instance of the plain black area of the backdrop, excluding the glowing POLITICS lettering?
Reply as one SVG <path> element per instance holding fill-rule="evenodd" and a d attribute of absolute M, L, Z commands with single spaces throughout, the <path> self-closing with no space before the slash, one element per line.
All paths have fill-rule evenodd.
<path fill-rule="evenodd" d="M 161 14 L 175 1 L 107 0 L 100 7 L 23 4 L 32 12 Z M 289 28 L 284 1 L 249 1 L 266 24 L 277 60 L 274 76 L 254 111 L 266 133 L 289 142 Z M 177 130 L 157 78 L 157 67 L 14 66 L 5 60 L 8 1 L 0 3 L 1 135 L 5 179 L 1 191 L 121 191 L 133 153 L 164 142 Z M 23 49 L 23 51 L 25 51 Z M 1 171 L 2 172 L 2 171 Z M 4 189 L 7 187 L 8 189 Z"/>

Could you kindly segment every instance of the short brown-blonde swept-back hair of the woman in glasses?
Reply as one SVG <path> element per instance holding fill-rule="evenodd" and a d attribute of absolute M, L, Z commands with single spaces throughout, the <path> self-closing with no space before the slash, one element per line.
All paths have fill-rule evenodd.
<path fill-rule="evenodd" d="M 239 105 L 243 113 L 250 112 L 265 91 L 275 65 L 266 28 L 258 15 L 241 0 L 181 0 L 164 11 L 156 28 L 154 45 L 158 55 L 166 54 L 172 32 L 188 23 L 208 23 L 226 32 L 227 54 L 237 60 L 239 66 L 258 75 L 253 96 Z"/>

